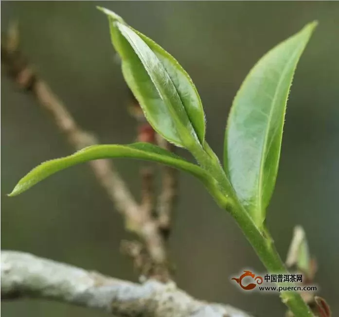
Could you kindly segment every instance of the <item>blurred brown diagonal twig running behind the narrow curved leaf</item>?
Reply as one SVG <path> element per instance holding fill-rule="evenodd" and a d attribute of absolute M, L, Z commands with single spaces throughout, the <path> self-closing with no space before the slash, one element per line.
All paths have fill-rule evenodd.
<path fill-rule="evenodd" d="M 34 96 L 39 105 L 52 115 L 56 126 L 76 150 L 98 143 L 92 134 L 84 131 L 75 122 L 63 102 L 27 63 L 19 48 L 17 24 L 11 25 L 7 36 L 1 41 L 1 63 L 4 64 L 9 77 L 21 89 Z M 89 166 L 114 203 L 115 209 L 125 217 L 126 229 L 141 237 L 151 261 L 161 267 L 161 274 L 164 276 L 160 278 L 167 279 L 166 249 L 157 220 L 152 218 L 150 212 L 143 212 L 144 207 L 137 203 L 111 160 L 92 160 Z M 143 181 L 143 186 L 147 186 L 147 182 Z M 142 191 L 145 195 L 152 195 L 149 189 L 143 188 Z"/>

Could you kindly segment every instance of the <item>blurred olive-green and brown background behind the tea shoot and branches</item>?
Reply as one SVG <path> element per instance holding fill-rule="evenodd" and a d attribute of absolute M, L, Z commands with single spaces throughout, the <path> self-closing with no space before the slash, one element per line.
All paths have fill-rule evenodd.
<path fill-rule="evenodd" d="M 285 258 L 295 225 L 303 225 L 319 263 L 319 295 L 339 314 L 339 2 L 1 1 L 1 28 L 18 19 L 22 51 L 77 122 L 102 143 L 135 140 L 136 124 L 110 44 L 105 6 L 173 54 L 190 73 L 207 117 L 207 139 L 221 157 L 233 96 L 254 63 L 275 44 L 318 19 L 298 66 L 287 107 L 277 185 L 268 226 Z M 125 232 L 90 168 L 59 173 L 30 191 L 5 196 L 46 159 L 73 152 L 36 101 L 1 72 L 1 248 L 136 281 L 119 252 Z M 189 158 L 184 150 L 178 154 Z M 140 194 L 139 162 L 115 160 Z M 203 186 L 180 173 L 170 238 L 178 286 L 258 317 L 283 316 L 277 295 L 244 294 L 230 282 L 244 267 L 265 272 L 232 218 Z M 41 300 L 1 305 L 3 316 L 105 316 Z"/>

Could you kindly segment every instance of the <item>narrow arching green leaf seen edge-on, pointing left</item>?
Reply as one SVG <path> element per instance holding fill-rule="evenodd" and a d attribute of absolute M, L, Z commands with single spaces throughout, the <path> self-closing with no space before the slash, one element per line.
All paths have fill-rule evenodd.
<path fill-rule="evenodd" d="M 201 180 L 207 181 L 211 179 L 211 177 L 199 166 L 150 143 L 132 143 L 129 145 L 92 145 L 68 157 L 52 159 L 38 165 L 19 180 L 18 184 L 9 196 L 15 196 L 25 192 L 36 183 L 58 171 L 64 170 L 76 164 L 101 158 L 139 158 L 150 160 L 189 172 Z"/>

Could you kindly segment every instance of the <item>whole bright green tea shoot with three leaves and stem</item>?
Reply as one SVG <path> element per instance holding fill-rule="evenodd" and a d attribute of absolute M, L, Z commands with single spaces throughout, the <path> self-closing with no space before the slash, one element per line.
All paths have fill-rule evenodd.
<path fill-rule="evenodd" d="M 105 8 L 112 44 L 122 59 L 128 87 L 152 128 L 187 149 L 192 164 L 149 143 L 98 145 L 42 163 L 22 177 L 11 196 L 72 165 L 99 158 L 161 162 L 196 176 L 218 205 L 230 212 L 268 272 L 287 274 L 266 228 L 266 209 L 277 177 L 285 108 L 293 75 L 317 22 L 265 54 L 250 70 L 231 108 L 224 141 L 224 165 L 205 141 L 201 99 L 187 72 L 157 43 Z M 148 193 L 146 191 L 145 193 Z M 295 317 L 312 317 L 300 294 L 281 291 Z"/>

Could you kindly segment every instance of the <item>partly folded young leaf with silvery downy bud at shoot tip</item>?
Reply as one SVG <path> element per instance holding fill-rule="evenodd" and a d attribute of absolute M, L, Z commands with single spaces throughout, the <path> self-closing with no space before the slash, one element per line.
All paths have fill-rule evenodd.
<path fill-rule="evenodd" d="M 178 146 L 202 146 L 204 112 L 187 72 L 169 53 L 115 13 L 100 10 L 108 16 L 112 44 L 122 59 L 125 81 L 148 122 Z"/>

